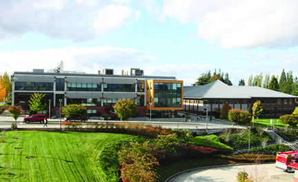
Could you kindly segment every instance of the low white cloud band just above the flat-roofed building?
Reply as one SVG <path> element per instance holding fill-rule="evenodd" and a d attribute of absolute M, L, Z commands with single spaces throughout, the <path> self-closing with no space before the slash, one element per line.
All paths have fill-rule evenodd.
<path fill-rule="evenodd" d="M 16 71 L 31 72 L 33 69 L 54 69 L 63 61 L 64 70 L 97 73 L 99 68 L 121 69 L 137 67 L 150 62 L 155 57 L 140 50 L 114 48 L 110 46 L 92 48 L 58 48 L 38 51 L 0 52 L 0 74 Z"/>

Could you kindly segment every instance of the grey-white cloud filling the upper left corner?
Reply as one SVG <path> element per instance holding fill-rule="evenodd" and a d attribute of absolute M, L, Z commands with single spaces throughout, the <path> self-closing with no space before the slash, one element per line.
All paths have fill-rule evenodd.
<path fill-rule="evenodd" d="M 137 20 L 140 12 L 108 0 L 20 0 L 0 4 L 0 40 L 37 32 L 86 41 Z"/>

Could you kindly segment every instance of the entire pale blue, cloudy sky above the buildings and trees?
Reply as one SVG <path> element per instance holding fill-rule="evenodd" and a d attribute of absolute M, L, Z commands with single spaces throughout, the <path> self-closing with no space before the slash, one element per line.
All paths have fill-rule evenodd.
<path fill-rule="evenodd" d="M 26 7 L 26 8 L 24 8 Z M 295 0 L 19 0 L 0 3 L 0 74 L 141 68 L 184 85 L 228 73 L 297 76 Z"/>

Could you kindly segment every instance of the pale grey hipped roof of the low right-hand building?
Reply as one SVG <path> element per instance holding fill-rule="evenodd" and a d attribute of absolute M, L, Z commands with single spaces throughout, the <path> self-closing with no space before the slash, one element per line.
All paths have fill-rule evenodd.
<path fill-rule="evenodd" d="M 187 99 L 252 99 L 255 97 L 296 98 L 291 94 L 257 86 L 230 86 L 219 80 L 206 85 L 183 87 L 183 98 Z"/>

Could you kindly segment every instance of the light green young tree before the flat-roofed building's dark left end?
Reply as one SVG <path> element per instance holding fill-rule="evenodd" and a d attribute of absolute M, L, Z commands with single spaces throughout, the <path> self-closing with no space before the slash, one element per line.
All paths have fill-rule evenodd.
<path fill-rule="evenodd" d="M 39 111 L 46 110 L 46 103 L 42 104 L 42 99 L 46 94 L 34 93 L 31 95 L 29 100 L 29 108 L 31 114 L 36 114 Z"/>

